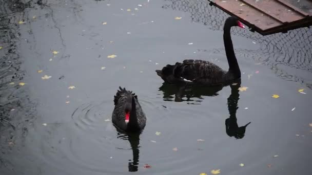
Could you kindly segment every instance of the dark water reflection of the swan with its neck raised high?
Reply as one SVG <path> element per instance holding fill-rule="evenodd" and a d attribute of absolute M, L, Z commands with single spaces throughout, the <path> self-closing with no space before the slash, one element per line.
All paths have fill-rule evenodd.
<path fill-rule="evenodd" d="M 234 136 L 236 139 L 242 139 L 245 136 L 246 127 L 251 122 L 241 127 L 237 124 L 236 111 L 238 109 L 238 89 L 241 86 L 241 80 L 233 81 L 231 84 L 210 87 L 163 83 L 163 85 L 159 88 L 159 91 L 163 92 L 163 98 L 165 101 L 173 101 L 172 99 L 174 98 L 174 101 L 176 102 L 187 101 L 189 104 L 200 104 L 203 99 L 202 96 L 217 96 L 219 95 L 218 92 L 227 85 L 231 88 L 231 94 L 227 98 L 227 108 L 230 116 L 225 120 L 226 134 L 229 137 Z M 198 100 L 193 100 L 192 98 L 197 98 Z"/>

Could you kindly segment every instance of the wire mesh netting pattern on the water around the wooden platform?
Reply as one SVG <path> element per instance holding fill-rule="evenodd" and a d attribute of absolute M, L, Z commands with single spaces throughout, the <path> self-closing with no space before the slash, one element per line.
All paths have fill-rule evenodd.
<path fill-rule="evenodd" d="M 224 11 L 210 6 L 206 0 L 165 0 L 170 4 L 164 5 L 164 9 L 181 10 L 189 12 L 191 19 L 203 23 L 211 30 L 223 30 L 225 19 L 229 16 Z M 277 33 L 262 36 L 249 30 L 233 28 L 232 35 L 243 36 L 255 40 L 261 45 L 259 50 L 236 49 L 240 57 L 252 58 L 268 65 L 275 73 L 286 80 L 298 81 L 312 89 L 311 79 L 293 75 L 293 73 L 282 70 L 279 64 L 289 68 L 300 69 L 312 73 L 312 30 L 301 28 L 288 31 L 288 33 Z M 217 48 L 218 52 L 225 52 L 223 48 Z M 211 51 L 206 51 L 211 52 Z M 294 71 L 293 71 L 294 72 Z"/>

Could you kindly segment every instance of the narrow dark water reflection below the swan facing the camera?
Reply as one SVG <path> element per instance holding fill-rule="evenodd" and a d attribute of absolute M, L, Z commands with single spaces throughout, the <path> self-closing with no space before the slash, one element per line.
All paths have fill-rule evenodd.
<path fill-rule="evenodd" d="M 122 140 L 128 140 L 132 149 L 132 160 L 129 159 L 128 171 L 136 172 L 139 169 L 139 144 L 141 133 L 125 133 L 122 130 L 116 128 L 118 134 L 117 138 Z"/>

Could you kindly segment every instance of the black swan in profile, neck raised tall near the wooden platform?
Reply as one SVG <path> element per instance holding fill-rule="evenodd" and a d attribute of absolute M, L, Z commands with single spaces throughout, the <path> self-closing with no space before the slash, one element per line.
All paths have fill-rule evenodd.
<path fill-rule="evenodd" d="M 223 41 L 229 65 L 228 72 L 209 61 L 186 59 L 182 63 L 167 64 L 162 70 L 156 70 L 157 75 L 167 83 L 187 83 L 190 85 L 218 85 L 241 78 L 241 71 L 231 40 L 230 29 L 232 26 L 245 28 L 237 17 L 231 16 L 225 20 Z"/>

